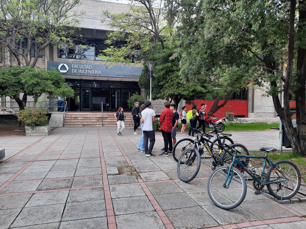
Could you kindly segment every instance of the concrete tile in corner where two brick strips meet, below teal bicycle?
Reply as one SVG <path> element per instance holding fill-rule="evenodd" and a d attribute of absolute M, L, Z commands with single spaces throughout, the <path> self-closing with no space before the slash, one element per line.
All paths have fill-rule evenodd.
<path fill-rule="evenodd" d="M 259 220 L 292 217 L 295 216 L 291 212 L 266 200 L 245 201 L 240 204 L 242 208 L 256 216 Z M 265 207 L 262 207 L 265 206 Z M 261 209 L 258 211 L 258 209 Z M 273 209 L 273 211 L 271 211 Z"/>

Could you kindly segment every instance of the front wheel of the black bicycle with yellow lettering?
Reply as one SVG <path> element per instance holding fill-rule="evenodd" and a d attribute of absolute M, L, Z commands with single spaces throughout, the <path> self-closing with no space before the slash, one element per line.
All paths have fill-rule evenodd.
<path fill-rule="evenodd" d="M 192 181 L 201 167 L 201 158 L 197 149 L 187 148 L 181 154 L 177 163 L 177 175 L 181 181 Z"/>

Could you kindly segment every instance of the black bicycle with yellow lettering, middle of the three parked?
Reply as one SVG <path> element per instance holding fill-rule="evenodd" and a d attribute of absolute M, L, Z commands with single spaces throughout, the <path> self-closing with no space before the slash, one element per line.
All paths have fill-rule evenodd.
<path fill-rule="evenodd" d="M 223 145 L 218 145 L 214 143 L 215 145 L 218 145 L 218 148 L 220 150 L 219 152 L 213 153 L 213 151 L 209 149 L 208 144 L 206 143 L 206 142 L 208 143 L 212 143 L 212 142 L 208 139 L 203 138 L 204 135 L 205 136 L 209 136 L 209 135 L 197 129 L 194 129 L 194 128 L 192 128 L 192 130 L 197 133 L 196 135 L 197 139 L 192 144 L 192 147 L 189 147 L 183 151 L 177 163 L 177 174 L 180 180 L 183 182 L 192 181 L 198 175 L 198 172 L 201 167 L 201 155 L 196 146 L 200 145 L 201 142 L 203 142 L 203 145 L 204 145 L 203 147 L 206 148 L 206 150 L 209 152 L 209 154 L 214 160 L 212 170 L 215 170 L 216 166 L 222 166 L 224 164 L 229 163 L 231 160 L 228 161 L 230 156 L 228 156 L 227 154 L 232 155 L 231 151 L 233 150 L 235 150 L 235 152 L 238 152 L 238 153 L 244 153 L 245 155 L 249 155 L 249 151 L 246 149 L 246 147 L 239 143 L 235 143 L 231 145 L 227 145 L 225 143 Z M 201 135 L 199 136 L 198 133 L 201 133 Z M 223 157 L 226 158 L 227 160 L 223 160 Z M 246 160 L 243 163 L 247 166 L 248 162 L 249 160 Z"/>

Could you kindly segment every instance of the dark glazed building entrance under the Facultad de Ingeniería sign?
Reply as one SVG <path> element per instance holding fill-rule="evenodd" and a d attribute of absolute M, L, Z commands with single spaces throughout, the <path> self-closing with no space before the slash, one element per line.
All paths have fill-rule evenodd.
<path fill-rule="evenodd" d="M 65 79 L 66 84 L 74 89 L 74 98 L 68 101 L 69 111 L 117 111 L 119 107 L 131 110 L 128 99 L 133 94 L 140 94 L 138 82 L 103 81 L 84 79 Z M 106 105 L 108 101 L 109 105 Z"/>

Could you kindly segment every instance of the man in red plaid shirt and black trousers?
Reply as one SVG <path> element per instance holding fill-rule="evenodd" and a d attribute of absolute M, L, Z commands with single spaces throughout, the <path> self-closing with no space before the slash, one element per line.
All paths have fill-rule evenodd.
<path fill-rule="evenodd" d="M 172 138 L 171 138 L 171 131 L 172 131 L 172 117 L 173 111 L 170 110 L 170 102 L 165 102 L 165 109 L 161 112 L 161 116 L 159 118 L 159 122 L 161 123 L 161 134 L 164 138 L 165 144 L 165 152 L 161 153 L 160 156 L 169 156 L 172 155 Z M 169 151 L 168 151 L 168 144 L 169 144 Z"/>

